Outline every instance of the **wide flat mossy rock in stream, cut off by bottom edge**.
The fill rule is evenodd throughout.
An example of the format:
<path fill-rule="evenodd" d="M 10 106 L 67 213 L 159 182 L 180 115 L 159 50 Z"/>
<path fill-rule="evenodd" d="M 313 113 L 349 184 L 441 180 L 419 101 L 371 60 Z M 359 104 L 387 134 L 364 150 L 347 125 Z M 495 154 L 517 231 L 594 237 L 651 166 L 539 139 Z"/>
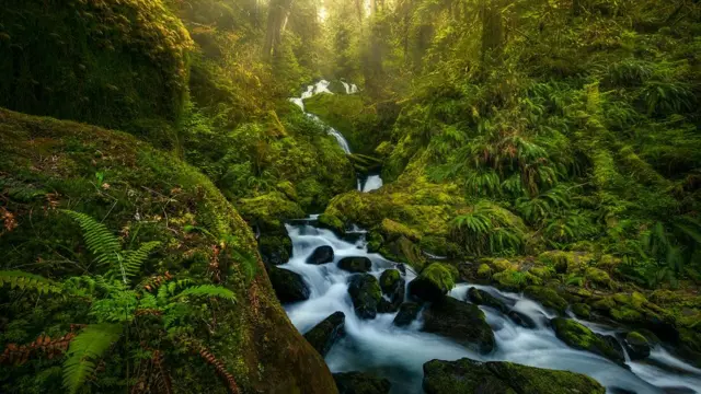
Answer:
<path fill-rule="evenodd" d="M 594 379 L 512 362 L 432 360 L 424 364 L 426 394 L 604 394 Z"/>

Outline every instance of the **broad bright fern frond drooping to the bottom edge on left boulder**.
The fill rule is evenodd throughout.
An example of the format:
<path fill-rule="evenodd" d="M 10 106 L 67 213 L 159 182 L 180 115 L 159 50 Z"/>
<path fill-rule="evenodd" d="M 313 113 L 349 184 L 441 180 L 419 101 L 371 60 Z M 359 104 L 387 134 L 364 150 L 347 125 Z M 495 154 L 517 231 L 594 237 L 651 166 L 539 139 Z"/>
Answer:
<path fill-rule="evenodd" d="M 64 362 L 64 387 L 74 394 L 95 371 L 95 362 L 119 339 L 122 325 L 92 324 L 85 327 L 70 344 Z"/>

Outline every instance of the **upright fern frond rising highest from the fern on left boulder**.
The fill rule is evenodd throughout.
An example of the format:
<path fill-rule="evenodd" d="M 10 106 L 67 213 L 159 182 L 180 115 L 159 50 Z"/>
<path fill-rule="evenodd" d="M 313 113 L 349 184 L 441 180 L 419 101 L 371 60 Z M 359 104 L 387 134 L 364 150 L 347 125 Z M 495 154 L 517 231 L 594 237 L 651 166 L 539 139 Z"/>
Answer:
<path fill-rule="evenodd" d="M 95 256 L 95 262 L 116 267 L 118 264 L 118 253 L 122 251 L 119 239 L 117 239 L 106 225 L 99 223 L 85 213 L 71 210 L 64 210 L 62 212 L 78 222 L 83 231 L 85 246 L 88 246 L 88 250 Z"/>

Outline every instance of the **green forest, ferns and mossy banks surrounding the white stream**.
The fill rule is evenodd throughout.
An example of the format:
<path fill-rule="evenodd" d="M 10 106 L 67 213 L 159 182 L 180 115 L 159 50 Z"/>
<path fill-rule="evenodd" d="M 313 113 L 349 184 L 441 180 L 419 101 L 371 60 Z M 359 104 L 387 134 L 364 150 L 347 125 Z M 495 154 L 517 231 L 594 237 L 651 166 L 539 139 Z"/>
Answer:
<path fill-rule="evenodd" d="M 0 391 L 334 392 L 265 274 L 310 213 L 701 362 L 697 0 L 0 10 Z"/>

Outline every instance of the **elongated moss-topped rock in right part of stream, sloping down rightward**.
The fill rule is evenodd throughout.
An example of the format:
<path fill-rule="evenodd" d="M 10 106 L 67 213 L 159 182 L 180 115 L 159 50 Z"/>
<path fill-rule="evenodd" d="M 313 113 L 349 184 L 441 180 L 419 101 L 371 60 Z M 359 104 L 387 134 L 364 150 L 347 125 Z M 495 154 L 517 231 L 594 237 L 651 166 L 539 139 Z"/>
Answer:
<path fill-rule="evenodd" d="M 575 349 L 590 351 L 621 364 L 625 361 L 622 351 L 616 346 L 612 346 L 609 339 L 602 335 L 595 334 L 591 329 L 574 320 L 555 317 L 551 320 L 550 323 L 558 338 L 568 346 Z"/>

